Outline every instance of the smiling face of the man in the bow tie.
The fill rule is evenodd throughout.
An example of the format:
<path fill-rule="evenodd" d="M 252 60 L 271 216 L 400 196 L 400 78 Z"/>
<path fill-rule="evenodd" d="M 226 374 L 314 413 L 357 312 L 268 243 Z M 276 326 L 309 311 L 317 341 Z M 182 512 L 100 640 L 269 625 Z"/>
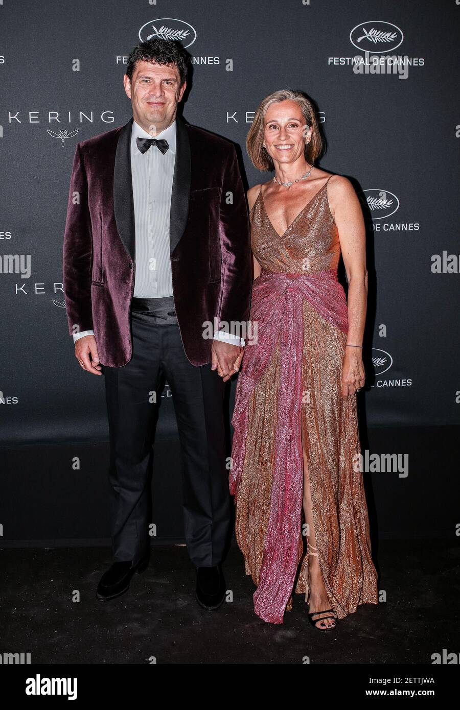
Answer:
<path fill-rule="evenodd" d="M 171 126 L 187 85 L 183 82 L 180 86 L 175 64 L 136 62 L 132 80 L 125 74 L 123 82 L 131 99 L 134 121 L 144 131 L 155 136 Z"/>

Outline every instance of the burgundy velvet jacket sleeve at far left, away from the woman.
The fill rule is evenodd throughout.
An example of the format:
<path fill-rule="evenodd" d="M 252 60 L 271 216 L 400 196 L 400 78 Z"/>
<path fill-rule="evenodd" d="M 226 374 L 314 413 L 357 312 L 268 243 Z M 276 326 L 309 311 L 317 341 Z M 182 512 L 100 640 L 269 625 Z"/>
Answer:
<path fill-rule="evenodd" d="M 70 335 L 92 330 L 92 230 L 80 143 L 75 148 L 65 221 L 63 285 Z"/>

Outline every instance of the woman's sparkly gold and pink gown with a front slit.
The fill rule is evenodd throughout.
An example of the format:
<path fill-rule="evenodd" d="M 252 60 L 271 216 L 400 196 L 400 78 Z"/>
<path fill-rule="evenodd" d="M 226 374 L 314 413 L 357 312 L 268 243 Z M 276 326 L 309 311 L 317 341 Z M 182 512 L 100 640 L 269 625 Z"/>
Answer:
<path fill-rule="evenodd" d="M 378 603 L 363 479 L 353 465 L 356 399 L 341 397 L 348 315 L 328 180 L 282 236 L 261 192 L 250 212 L 262 272 L 250 312 L 257 337 L 245 348 L 235 394 L 230 492 L 246 574 L 257 586 L 255 612 L 271 623 L 283 623 L 292 593 L 306 590 L 303 447 L 330 606 L 343 618 Z"/>

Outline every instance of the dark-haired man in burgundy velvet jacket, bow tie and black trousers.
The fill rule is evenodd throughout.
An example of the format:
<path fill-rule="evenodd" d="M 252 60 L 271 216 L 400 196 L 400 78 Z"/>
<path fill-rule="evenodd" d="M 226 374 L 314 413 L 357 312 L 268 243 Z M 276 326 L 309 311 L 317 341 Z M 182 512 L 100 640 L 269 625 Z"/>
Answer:
<path fill-rule="evenodd" d="M 63 278 L 75 356 L 105 375 L 114 564 L 97 597 L 123 594 L 149 561 L 152 400 L 166 378 L 196 597 L 214 609 L 230 522 L 223 396 L 245 344 L 251 256 L 235 148 L 176 116 L 188 61 L 176 41 L 138 45 L 124 75 L 133 118 L 77 144 Z"/>

